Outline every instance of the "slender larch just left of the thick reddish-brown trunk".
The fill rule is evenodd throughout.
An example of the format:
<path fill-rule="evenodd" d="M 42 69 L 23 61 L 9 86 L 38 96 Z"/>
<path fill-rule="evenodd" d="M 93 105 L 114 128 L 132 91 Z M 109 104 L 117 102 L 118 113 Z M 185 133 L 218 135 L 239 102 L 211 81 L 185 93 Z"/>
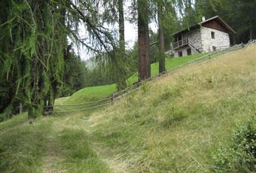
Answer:
<path fill-rule="evenodd" d="M 114 26 L 114 30 L 117 29 L 118 41 L 114 42 L 113 50 L 109 53 L 103 53 L 102 56 L 98 56 L 99 63 L 106 63 L 105 61 L 107 61 L 108 66 L 106 68 L 111 68 L 114 83 L 117 84 L 117 90 L 126 88 L 127 77 L 128 59 L 126 59 L 124 40 L 123 2 L 123 0 L 102 1 L 104 5 L 102 20 L 108 25 Z M 118 27 L 115 26 L 116 24 L 118 24 Z"/>

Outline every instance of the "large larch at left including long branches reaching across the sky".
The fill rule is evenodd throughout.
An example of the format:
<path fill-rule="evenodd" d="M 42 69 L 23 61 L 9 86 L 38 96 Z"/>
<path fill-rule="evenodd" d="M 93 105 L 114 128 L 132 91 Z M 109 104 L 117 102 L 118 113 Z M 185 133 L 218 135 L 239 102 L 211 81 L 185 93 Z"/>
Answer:
<path fill-rule="evenodd" d="M 114 39 L 97 15 L 96 0 L 0 2 L 1 78 L 15 77 L 15 94 L 29 119 L 52 112 L 62 84 L 67 36 L 88 50 L 113 50 Z M 80 23 L 88 32 L 81 38 Z"/>

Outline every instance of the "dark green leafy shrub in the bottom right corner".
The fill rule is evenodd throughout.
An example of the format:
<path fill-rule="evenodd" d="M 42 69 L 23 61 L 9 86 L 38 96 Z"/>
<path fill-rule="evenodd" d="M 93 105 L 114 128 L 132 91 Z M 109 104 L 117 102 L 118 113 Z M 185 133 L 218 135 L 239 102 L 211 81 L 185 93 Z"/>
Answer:
<path fill-rule="evenodd" d="M 217 172 L 256 172 L 255 117 L 237 126 L 230 147 L 221 147 L 213 156 Z"/>

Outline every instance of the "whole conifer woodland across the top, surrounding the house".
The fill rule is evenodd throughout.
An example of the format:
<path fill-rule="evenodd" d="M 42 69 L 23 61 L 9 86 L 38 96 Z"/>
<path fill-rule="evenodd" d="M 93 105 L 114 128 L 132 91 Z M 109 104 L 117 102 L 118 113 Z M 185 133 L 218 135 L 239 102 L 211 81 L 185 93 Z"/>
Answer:
<path fill-rule="evenodd" d="M 219 15 L 236 31 L 236 44 L 248 42 L 256 36 L 255 9 L 255 0 L 138 0 L 127 9 L 121 0 L 2 0 L 0 114 L 4 114 L 0 120 L 16 114 L 20 103 L 29 118 L 38 117 L 53 109 L 56 98 L 86 86 L 117 83 L 121 90 L 126 78 L 137 71 L 139 80 L 148 77 L 150 62 L 159 61 L 164 71 L 163 52 L 169 49 L 172 33 L 200 22 L 202 16 Z M 124 41 L 124 20 L 139 28 L 139 41 L 131 50 Z M 151 22 L 158 23 L 158 33 L 148 29 Z M 119 27 L 107 29 L 106 23 Z M 87 38 L 78 34 L 80 24 Z M 158 44 L 149 47 L 155 41 Z M 93 66 L 81 60 L 75 45 L 94 53 Z M 145 71 L 138 70 L 143 65 Z"/>

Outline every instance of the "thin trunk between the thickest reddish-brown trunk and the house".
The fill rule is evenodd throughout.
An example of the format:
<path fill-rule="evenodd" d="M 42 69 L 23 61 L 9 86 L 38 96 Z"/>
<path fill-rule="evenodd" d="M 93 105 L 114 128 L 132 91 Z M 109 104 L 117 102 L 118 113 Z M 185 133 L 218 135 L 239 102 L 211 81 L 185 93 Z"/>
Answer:
<path fill-rule="evenodd" d="M 164 33 L 163 33 L 163 5 L 161 2 L 157 3 L 157 17 L 158 17 L 158 48 L 159 48 L 159 73 L 166 71 L 166 59 L 164 54 Z"/>

